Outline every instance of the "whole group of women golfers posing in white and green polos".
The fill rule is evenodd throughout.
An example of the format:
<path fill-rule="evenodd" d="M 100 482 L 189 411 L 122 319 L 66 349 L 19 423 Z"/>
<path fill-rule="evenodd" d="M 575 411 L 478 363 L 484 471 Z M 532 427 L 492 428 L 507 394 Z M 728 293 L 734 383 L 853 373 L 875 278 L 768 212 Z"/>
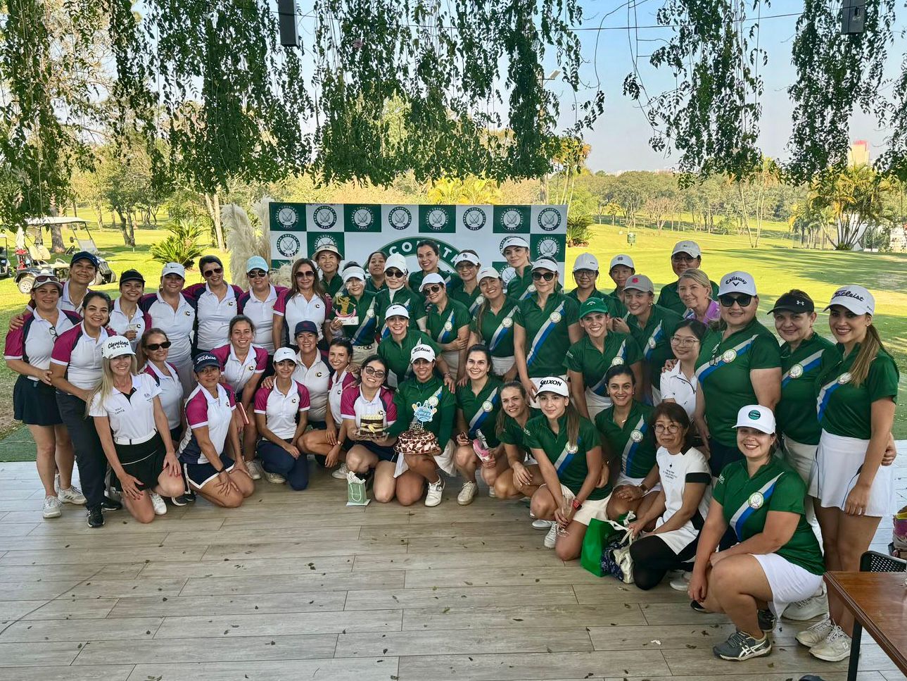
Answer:
<path fill-rule="evenodd" d="M 695 242 L 675 247 L 678 281 L 658 298 L 626 254 L 610 261 L 610 293 L 589 253 L 564 292 L 557 263 L 530 262 L 518 236 L 502 242 L 506 281 L 473 251 L 455 274 L 434 242 L 416 254 L 412 273 L 397 253 L 341 267 L 327 246 L 293 263 L 287 288 L 253 257 L 245 291 L 205 256 L 204 283 L 187 287 L 168 263 L 144 294 L 141 273 L 124 272 L 115 302 L 79 283 L 89 253 L 73 255 L 71 281 L 39 277 L 5 359 L 21 374 L 15 416 L 38 447 L 45 517 L 84 503 L 100 527 L 117 497 L 142 522 L 164 498 L 236 507 L 262 476 L 306 489 L 308 455 L 404 505 L 438 505 L 456 474 L 467 505 L 481 475 L 490 496 L 529 499 L 565 560 L 592 518 L 632 513 L 636 584 L 677 571 L 694 608 L 727 613 L 736 632 L 718 656 L 769 652 L 783 612 L 825 614 L 798 640 L 847 656 L 853 622 L 826 604 L 821 575 L 856 569 L 893 501 L 898 370 L 869 291 L 834 292 L 835 342 L 805 291 L 785 293 L 769 311 L 779 346 L 753 278 L 710 281 Z M 398 456 L 414 419 L 438 446 Z"/>

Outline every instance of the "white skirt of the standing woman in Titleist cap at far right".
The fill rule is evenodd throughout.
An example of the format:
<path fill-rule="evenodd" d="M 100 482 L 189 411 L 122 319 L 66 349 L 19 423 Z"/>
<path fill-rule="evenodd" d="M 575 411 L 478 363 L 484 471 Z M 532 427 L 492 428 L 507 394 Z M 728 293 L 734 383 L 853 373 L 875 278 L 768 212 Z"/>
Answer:
<path fill-rule="evenodd" d="M 809 495 L 818 499 L 822 508 L 844 510 L 847 495 L 860 477 L 860 469 L 869 447 L 868 439 L 844 438 L 825 430 L 815 451 L 815 465 L 809 477 Z M 880 466 L 869 489 L 869 503 L 864 516 L 882 518 L 894 511 L 894 471 Z"/>

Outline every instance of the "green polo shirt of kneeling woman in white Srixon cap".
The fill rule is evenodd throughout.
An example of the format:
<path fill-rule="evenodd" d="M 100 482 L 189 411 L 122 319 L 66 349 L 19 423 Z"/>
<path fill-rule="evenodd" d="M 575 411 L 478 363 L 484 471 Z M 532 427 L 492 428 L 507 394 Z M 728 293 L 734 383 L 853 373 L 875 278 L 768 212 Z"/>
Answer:
<path fill-rule="evenodd" d="M 558 479 L 561 485 L 570 489 L 574 495 L 580 493 L 586 476 L 589 474 L 589 466 L 586 463 L 586 453 L 590 449 L 600 447 L 599 434 L 595 431 L 595 426 L 589 419 L 580 417 L 580 437 L 575 443 L 567 442 L 567 416 L 564 415 L 558 420 L 558 434 L 555 435 L 548 425 L 548 418 L 537 416 L 534 419 L 526 421 L 524 441 L 528 449 L 541 449 L 545 456 L 554 465 L 558 471 Z M 536 457 L 538 458 L 538 457 Z M 596 500 L 606 498 L 611 493 L 611 486 L 593 488 L 589 499 Z"/>

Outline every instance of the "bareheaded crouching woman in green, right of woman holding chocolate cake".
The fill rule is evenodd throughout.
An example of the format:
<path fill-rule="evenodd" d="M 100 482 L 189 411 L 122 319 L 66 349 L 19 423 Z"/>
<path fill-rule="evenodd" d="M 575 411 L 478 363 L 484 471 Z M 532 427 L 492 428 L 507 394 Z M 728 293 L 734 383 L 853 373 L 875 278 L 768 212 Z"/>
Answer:
<path fill-rule="evenodd" d="M 492 355 L 484 345 L 473 345 L 466 353 L 466 384 L 456 391 L 456 447 L 453 462 L 463 476 L 463 489 L 456 498 L 460 506 L 473 503 L 477 487 L 475 470 L 482 466 L 482 479 L 488 485 L 489 495 L 494 496 L 494 482 L 507 466 L 503 447 L 495 425 L 501 410 L 501 380 L 492 376 Z M 484 439 L 484 446 L 480 439 Z M 480 449 L 488 456 L 480 459 L 473 448 L 478 440 Z"/>

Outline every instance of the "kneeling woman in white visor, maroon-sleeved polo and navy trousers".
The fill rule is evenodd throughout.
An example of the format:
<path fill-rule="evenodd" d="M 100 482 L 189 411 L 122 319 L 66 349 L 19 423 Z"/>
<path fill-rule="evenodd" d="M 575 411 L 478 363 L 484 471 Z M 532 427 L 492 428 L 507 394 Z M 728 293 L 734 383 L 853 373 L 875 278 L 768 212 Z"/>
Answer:
<path fill-rule="evenodd" d="M 274 353 L 274 385 L 255 393 L 255 421 L 261 439 L 256 453 L 268 482 L 286 482 L 297 491 L 308 487 L 308 458 L 302 434 L 308 425 L 308 390 L 293 380 L 296 353 L 279 348 Z"/>

